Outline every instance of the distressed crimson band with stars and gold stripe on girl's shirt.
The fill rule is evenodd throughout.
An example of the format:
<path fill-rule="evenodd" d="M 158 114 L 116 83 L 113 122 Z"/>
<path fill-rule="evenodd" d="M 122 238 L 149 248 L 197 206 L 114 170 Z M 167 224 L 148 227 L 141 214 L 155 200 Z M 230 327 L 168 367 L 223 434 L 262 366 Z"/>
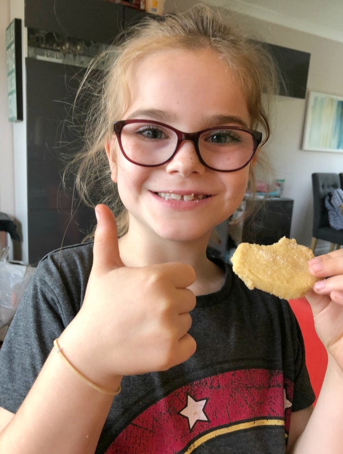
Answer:
<path fill-rule="evenodd" d="M 293 383 L 279 371 L 238 370 L 200 379 L 147 408 L 106 454 L 188 454 L 213 437 L 262 425 L 284 425 L 288 434 L 292 399 Z"/>

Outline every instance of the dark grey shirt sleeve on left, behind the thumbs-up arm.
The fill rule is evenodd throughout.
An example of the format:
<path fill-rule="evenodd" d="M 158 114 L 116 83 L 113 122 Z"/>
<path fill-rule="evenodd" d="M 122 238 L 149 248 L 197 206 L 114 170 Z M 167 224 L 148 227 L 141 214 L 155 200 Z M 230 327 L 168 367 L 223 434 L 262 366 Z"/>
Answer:
<path fill-rule="evenodd" d="M 0 407 L 16 413 L 52 347 L 75 316 L 50 259 L 38 265 L 0 350 Z"/>

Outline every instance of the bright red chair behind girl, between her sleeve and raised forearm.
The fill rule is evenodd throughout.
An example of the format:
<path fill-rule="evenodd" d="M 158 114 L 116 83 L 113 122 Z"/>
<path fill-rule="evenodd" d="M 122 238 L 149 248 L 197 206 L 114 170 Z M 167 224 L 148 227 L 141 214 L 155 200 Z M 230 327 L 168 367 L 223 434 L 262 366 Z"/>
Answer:
<path fill-rule="evenodd" d="M 314 393 L 316 395 L 316 400 L 314 402 L 315 405 L 327 367 L 327 352 L 314 328 L 312 310 L 306 298 L 290 300 L 289 303 L 297 317 L 298 323 L 303 333 L 306 366 L 309 371 Z"/>

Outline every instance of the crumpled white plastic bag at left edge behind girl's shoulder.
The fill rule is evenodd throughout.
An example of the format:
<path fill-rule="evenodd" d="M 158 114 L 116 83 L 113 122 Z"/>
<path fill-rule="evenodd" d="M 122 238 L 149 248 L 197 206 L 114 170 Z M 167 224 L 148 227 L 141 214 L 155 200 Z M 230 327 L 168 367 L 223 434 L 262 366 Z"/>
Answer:
<path fill-rule="evenodd" d="M 35 268 L 0 261 L 0 341 L 3 341 Z"/>

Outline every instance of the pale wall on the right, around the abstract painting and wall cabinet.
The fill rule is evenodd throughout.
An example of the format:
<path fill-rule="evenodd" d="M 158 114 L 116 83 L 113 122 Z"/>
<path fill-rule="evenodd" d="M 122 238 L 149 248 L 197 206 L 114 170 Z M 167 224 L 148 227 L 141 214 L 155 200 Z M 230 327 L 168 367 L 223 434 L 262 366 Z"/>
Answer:
<path fill-rule="evenodd" d="M 195 0 L 166 0 L 166 11 L 184 11 Z M 218 6 L 223 0 L 207 0 Z M 234 13 L 242 27 L 256 38 L 311 53 L 308 91 L 343 96 L 343 42 L 304 33 L 289 27 Z M 339 36 L 340 38 L 340 36 Z M 302 136 L 306 100 L 278 96 L 275 132 L 266 150 L 276 169 L 276 178 L 285 179 L 283 195 L 294 199 L 291 236 L 310 246 L 312 237 L 312 182 L 314 172 L 343 172 L 343 154 L 303 151 Z M 318 242 L 317 253 L 326 252 L 328 243 Z"/>

